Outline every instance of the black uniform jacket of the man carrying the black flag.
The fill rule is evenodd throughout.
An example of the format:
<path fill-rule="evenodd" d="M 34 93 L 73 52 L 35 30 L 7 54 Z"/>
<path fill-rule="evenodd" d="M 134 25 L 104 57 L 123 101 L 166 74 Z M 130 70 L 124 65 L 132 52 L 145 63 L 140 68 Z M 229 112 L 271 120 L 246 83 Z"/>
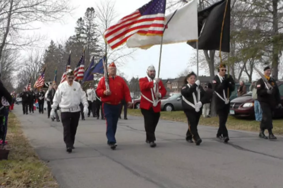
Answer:
<path fill-rule="evenodd" d="M 228 88 L 229 88 L 229 93 L 228 93 Z M 212 89 L 214 92 L 217 92 L 222 98 L 223 96 L 223 90 L 225 93 L 226 98 L 231 96 L 232 91 L 235 90 L 235 81 L 232 78 L 232 76 L 229 76 L 226 74 L 224 76 L 224 79 L 221 83 L 220 78 L 218 75 L 216 75 L 213 80 L 212 80 Z M 225 101 L 223 101 L 216 93 L 214 93 L 215 100 L 216 100 L 216 109 L 221 109 L 225 107 Z M 225 98 L 224 98 L 225 99 Z M 227 105 L 230 105 L 230 101 Z"/>

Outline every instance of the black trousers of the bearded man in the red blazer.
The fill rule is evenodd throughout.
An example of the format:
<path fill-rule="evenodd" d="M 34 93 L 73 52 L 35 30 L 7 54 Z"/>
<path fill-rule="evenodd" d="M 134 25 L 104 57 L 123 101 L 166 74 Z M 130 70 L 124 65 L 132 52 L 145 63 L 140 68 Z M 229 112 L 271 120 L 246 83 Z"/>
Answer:
<path fill-rule="evenodd" d="M 141 109 L 142 115 L 144 116 L 144 128 L 146 130 L 146 140 L 154 142 L 155 129 L 159 121 L 160 112 L 154 112 L 153 109 Z"/>

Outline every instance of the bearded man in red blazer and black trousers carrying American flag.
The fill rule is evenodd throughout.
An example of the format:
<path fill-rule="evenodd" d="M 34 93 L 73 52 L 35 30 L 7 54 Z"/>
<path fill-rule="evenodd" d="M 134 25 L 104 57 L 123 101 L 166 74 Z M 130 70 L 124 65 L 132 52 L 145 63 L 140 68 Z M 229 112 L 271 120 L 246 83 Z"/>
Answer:
<path fill-rule="evenodd" d="M 146 130 L 146 143 L 150 147 L 156 147 L 154 143 L 155 129 L 160 117 L 160 100 L 165 97 L 166 89 L 159 78 L 155 78 L 155 68 L 153 65 L 147 69 L 147 76 L 139 79 L 139 88 L 141 90 L 140 109 L 144 116 L 144 128 Z"/>

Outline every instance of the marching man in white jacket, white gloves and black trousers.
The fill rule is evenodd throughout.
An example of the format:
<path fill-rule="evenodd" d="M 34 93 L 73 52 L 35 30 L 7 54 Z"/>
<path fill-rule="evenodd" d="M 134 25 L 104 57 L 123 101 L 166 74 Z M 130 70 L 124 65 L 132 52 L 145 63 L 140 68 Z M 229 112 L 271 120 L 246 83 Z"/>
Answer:
<path fill-rule="evenodd" d="M 74 78 L 74 72 L 69 69 L 66 73 L 67 81 L 61 83 L 56 90 L 50 113 L 51 118 L 55 118 L 55 110 L 59 105 L 64 130 L 64 142 L 68 153 L 71 153 L 72 149 L 75 149 L 75 135 L 81 115 L 80 103 L 83 104 L 84 115 L 88 113 L 85 92 L 79 82 L 74 81 Z"/>

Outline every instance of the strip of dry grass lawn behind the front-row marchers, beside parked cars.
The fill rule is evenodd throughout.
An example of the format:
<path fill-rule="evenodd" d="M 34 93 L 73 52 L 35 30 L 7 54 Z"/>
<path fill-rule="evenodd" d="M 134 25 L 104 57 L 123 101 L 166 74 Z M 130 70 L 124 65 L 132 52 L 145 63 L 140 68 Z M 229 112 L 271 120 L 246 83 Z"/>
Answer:
<path fill-rule="evenodd" d="M 128 109 L 129 115 L 142 116 L 139 109 Z M 173 111 L 173 112 L 161 112 L 161 119 L 170 121 L 181 121 L 187 122 L 187 117 L 183 111 Z M 200 125 L 207 126 L 219 126 L 218 117 L 211 118 L 200 118 Z M 248 130 L 248 131 L 259 131 L 259 122 L 246 119 L 236 119 L 235 117 L 229 116 L 226 124 L 228 129 L 234 130 Z M 273 120 L 273 132 L 274 134 L 283 135 L 283 120 L 276 119 Z"/>

